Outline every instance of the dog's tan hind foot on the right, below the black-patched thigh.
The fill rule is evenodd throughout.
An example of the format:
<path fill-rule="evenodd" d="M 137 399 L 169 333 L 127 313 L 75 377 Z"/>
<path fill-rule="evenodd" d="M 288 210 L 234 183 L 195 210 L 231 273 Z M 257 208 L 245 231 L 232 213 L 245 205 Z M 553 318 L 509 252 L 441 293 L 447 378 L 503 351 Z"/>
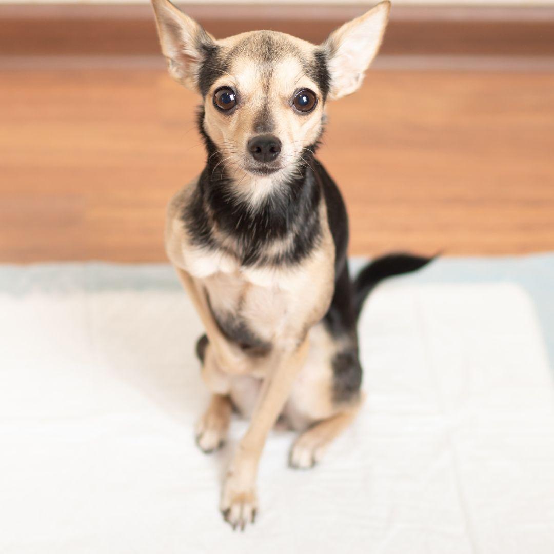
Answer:
<path fill-rule="evenodd" d="M 290 450 L 289 465 L 296 469 L 309 469 L 319 462 L 331 442 L 356 417 L 362 399 L 327 419 L 314 423 L 300 434 Z"/>

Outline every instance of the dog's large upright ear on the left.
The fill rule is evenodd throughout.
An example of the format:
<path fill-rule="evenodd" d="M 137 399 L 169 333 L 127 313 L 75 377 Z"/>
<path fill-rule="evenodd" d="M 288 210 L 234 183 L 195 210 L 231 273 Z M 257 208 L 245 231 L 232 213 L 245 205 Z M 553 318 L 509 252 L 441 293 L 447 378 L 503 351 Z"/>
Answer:
<path fill-rule="evenodd" d="M 152 0 L 152 6 L 170 75 L 198 93 L 198 73 L 206 54 L 216 48 L 215 39 L 169 0 Z"/>

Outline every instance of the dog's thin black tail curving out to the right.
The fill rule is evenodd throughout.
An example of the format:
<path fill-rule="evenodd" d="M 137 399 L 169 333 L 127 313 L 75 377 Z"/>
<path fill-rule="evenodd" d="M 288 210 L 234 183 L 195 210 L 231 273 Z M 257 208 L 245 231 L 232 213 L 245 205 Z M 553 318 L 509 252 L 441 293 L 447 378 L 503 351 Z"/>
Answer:
<path fill-rule="evenodd" d="M 356 317 L 362 311 L 363 301 L 375 286 L 393 275 L 402 275 L 411 273 L 433 261 L 432 258 L 423 258 L 412 254 L 388 254 L 382 258 L 377 258 L 363 268 L 354 280 L 354 301 L 356 307 Z"/>

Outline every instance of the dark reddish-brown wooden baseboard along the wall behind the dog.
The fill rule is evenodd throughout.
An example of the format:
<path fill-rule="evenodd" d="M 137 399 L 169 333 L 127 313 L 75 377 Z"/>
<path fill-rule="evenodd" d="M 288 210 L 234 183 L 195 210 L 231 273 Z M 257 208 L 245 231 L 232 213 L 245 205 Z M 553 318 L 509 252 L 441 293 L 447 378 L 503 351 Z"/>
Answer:
<path fill-rule="evenodd" d="M 363 6 L 188 5 L 216 37 L 270 28 L 320 42 Z M 554 57 L 553 8 L 394 7 L 383 56 Z M 150 6 L 0 6 L 0 56 L 158 55 Z"/>

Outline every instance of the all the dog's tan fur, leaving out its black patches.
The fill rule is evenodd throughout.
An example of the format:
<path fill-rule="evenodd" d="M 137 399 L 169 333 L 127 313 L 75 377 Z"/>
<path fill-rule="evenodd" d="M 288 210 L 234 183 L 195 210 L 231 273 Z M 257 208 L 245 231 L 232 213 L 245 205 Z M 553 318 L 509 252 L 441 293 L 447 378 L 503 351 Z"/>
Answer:
<path fill-rule="evenodd" d="M 316 47 L 270 31 L 216 41 L 168 0 L 152 3 L 168 70 L 179 83 L 200 91 L 202 44 L 209 48 L 217 43 L 227 54 L 225 59 L 230 60 L 228 70 L 218 74 L 209 90 L 203 91 L 202 127 L 218 148 L 218 163 L 230 177 L 234 192 L 254 209 L 271 191 L 286 186 L 297 171 L 302 152 L 320 135 L 324 95 L 302 64 L 315 59 Z M 340 98 L 360 86 L 381 43 L 389 5 L 382 2 L 330 35 L 325 43 L 330 56 L 329 98 Z M 264 45 L 270 45 L 270 49 L 260 55 Z M 220 87 L 231 87 L 237 93 L 239 100 L 233 114 L 223 113 L 213 104 L 213 94 Z M 306 114 L 293 109 L 294 96 L 300 89 L 310 89 L 318 99 L 315 108 Z M 252 156 L 247 145 L 262 132 L 260 127 L 269 125 L 268 121 L 271 134 L 281 142 L 276 161 L 280 165 L 271 176 L 261 176 L 248 165 Z M 213 168 L 216 170 L 217 166 Z M 291 453 L 291 463 L 303 467 L 319 459 L 330 440 L 350 423 L 360 401 L 355 398 L 344 406 L 333 398 L 332 360 L 343 345 L 320 323 L 329 309 L 335 282 L 335 244 L 324 199 L 317 208 L 319 240 L 300 263 L 243 266 L 240 244 L 230 235 L 223 235 L 213 213 L 208 212 L 206 217 L 212 219 L 219 250 L 193 244 L 188 236 L 182 218 L 197 184 L 198 179 L 194 179 L 168 206 L 166 252 L 208 337 L 202 377 L 213 396 L 198 424 L 199 446 L 212 450 L 223 440 L 231 400 L 243 414 L 251 416 L 249 429 L 229 467 L 220 502 L 233 527 L 244 527 L 257 509 L 258 461 L 279 415 L 296 429 L 309 428 Z M 267 254 L 287 252 L 292 236 L 275 240 Z M 257 355 L 243 351 L 224 335 L 214 312 L 237 314 L 271 347 Z"/>

